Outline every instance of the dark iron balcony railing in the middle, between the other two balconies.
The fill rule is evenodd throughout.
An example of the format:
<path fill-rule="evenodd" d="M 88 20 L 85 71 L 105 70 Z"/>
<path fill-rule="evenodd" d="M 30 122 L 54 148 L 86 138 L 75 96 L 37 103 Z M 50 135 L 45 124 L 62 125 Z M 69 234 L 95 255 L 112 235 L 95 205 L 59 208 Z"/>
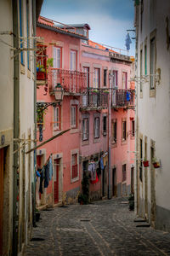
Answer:
<path fill-rule="evenodd" d="M 82 109 L 107 108 L 109 90 L 87 88 L 82 95 Z"/>

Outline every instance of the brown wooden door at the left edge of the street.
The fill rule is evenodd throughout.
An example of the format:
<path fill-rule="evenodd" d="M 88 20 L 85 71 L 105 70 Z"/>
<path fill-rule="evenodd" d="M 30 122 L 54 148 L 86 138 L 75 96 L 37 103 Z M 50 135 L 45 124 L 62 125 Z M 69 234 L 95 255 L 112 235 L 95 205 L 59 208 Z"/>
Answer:
<path fill-rule="evenodd" d="M 0 255 L 3 254 L 3 148 L 0 149 Z"/>

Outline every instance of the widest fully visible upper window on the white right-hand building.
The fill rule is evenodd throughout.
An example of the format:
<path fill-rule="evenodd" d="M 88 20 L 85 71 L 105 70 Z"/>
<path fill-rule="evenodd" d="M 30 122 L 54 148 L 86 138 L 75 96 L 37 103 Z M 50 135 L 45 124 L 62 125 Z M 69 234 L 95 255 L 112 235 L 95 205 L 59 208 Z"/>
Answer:
<path fill-rule="evenodd" d="M 154 74 L 156 73 L 156 38 L 150 40 L 150 89 L 155 88 Z"/>

